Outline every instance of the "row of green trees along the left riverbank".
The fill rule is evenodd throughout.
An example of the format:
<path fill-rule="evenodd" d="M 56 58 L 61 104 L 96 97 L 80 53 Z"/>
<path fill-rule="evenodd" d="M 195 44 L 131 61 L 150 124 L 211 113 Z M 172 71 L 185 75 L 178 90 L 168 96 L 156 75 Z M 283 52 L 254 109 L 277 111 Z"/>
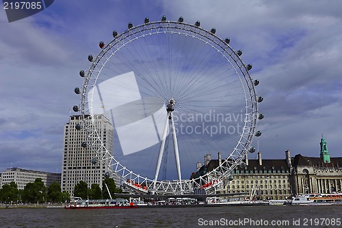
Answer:
<path fill-rule="evenodd" d="M 116 188 L 114 179 L 106 178 L 103 181 L 102 190 L 98 183 L 93 183 L 91 188 L 88 188 L 88 183 L 79 181 L 75 186 L 74 196 L 82 199 L 110 199 L 105 183 L 111 197 L 114 197 L 114 193 L 122 192 L 120 188 Z M 18 185 L 12 181 L 0 188 L 0 202 L 2 203 L 65 203 L 68 201 L 70 201 L 70 194 L 66 191 L 62 192 L 60 183 L 57 181 L 46 187 L 42 179 L 37 178 L 34 182 L 27 183 L 23 190 L 18 190 Z"/>

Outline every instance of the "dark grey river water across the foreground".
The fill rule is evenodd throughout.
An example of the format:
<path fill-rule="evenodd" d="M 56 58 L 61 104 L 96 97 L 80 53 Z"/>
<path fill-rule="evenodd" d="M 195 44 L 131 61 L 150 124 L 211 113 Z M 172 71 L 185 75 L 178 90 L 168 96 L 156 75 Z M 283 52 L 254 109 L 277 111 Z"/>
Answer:
<path fill-rule="evenodd" d="M 0 227 L 341 227 L 342 205 L 0 209 Z"/>

